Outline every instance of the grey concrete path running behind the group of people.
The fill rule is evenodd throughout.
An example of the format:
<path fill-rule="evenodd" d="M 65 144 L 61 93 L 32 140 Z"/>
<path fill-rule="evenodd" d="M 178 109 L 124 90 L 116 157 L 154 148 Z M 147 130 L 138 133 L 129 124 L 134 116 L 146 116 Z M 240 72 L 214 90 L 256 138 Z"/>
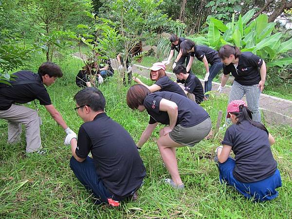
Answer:
<path fill-rule="evenodd" d="M 79 53 L 74 55 L 80 58 Z M 115 59 L 111 60 L 111 65 L 114 70 L 117 69 L 117 63 Z M 149 78 L 148 68 L 142 65 L 133 65 L 132 73 L 138 73 L 146 78 Z M 166 73 L 169 77 L 173 79 L 176 78 L 174 73 Z M 203 80 L 201 80 L 201 83 L 202 85 L 204 84 Z M 212 91 L 216 91 L 220 84 L 213 82 L 212 85 Z M 231 87 L 226 86 L 226 89 L 223 90 L 223 93 L 229 94 L 230 89 Z M 245 99 L 245 97 L 243 99 Z M 266 123 L 270 125 L 288 125 L 292 127 L 292 101 L 261 94 L 259 99 L 259 106 Z"/>

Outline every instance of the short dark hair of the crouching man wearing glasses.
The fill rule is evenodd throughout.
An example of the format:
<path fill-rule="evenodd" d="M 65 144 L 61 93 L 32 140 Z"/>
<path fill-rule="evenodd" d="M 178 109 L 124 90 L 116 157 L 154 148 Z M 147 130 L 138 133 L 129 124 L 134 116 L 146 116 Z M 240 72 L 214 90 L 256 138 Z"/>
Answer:
<path fill-rule="evenodd" d="M 105 110 L 106 99 L 102 92 L 94 87 L 78 91 L 74 96 L 74 100 L 78 106 L 88 105 L 95 112 Z"/>

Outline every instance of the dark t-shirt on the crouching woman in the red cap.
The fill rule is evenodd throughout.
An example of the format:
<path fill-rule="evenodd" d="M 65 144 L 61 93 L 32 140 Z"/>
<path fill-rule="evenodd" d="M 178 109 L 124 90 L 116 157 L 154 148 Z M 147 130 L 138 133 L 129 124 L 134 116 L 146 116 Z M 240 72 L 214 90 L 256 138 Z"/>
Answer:
<path fill-rule="evenodd" d="M 233 175 L 240 182 L 267 179 L 277 169 L 268 133 L 248 121 L 227 128 L 221 144 L 232 146 L 236 159 Z"/>

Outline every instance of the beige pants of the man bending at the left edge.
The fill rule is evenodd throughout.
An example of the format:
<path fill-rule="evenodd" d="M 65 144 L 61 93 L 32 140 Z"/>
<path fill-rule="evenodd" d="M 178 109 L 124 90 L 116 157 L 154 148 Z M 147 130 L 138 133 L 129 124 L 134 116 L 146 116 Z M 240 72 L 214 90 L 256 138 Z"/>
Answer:
<path fill-rule="evenodd" d="M 8 121 L 8 143 L 20 141 L 21 124 L 23 124 L 26 132 L 26 152 L 30 153 L 42 148 L 36 110 L 12 104 L 8 110 L 0 110 L 0 118 Z"/>

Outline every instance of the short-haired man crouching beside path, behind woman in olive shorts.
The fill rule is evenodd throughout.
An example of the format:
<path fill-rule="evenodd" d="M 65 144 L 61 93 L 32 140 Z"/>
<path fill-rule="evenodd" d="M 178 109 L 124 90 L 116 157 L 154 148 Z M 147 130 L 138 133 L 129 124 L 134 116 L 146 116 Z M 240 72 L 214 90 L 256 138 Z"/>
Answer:
<path fill-rule="evenodd" d="M 197 104 L 201 104 L 204 99 L 204 91 L 201 81 L 196 75 L 186 73 L 186 69 L 183 65 L 178 65 L 173 69 L 177 77 L 177 83 L 182 83 L 184 85 L 184 92 L 187 94 L 194 94 L 195 101 Z M 191 98 L 190 98 L 191 99 Z"/>

